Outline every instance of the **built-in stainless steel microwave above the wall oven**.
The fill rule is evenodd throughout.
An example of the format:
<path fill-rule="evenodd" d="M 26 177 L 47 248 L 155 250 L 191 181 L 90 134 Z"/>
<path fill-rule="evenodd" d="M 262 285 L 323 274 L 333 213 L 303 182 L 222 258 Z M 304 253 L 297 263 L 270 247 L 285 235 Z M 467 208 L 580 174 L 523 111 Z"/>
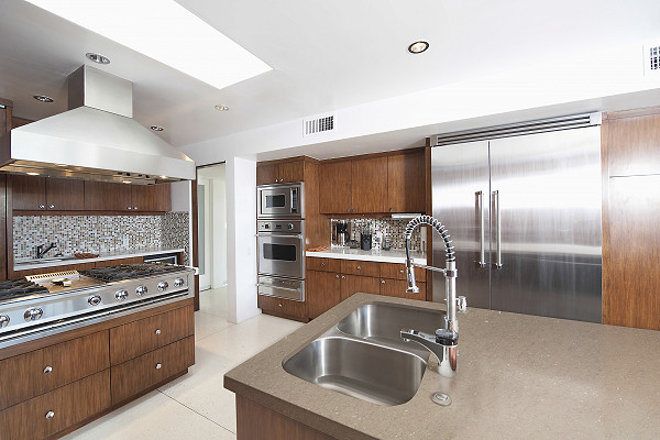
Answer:
<path fill-rule="evenodd" d="M 257 188 L 257 219 L 301 219 L 304 183 L 260 185 Z"/>

